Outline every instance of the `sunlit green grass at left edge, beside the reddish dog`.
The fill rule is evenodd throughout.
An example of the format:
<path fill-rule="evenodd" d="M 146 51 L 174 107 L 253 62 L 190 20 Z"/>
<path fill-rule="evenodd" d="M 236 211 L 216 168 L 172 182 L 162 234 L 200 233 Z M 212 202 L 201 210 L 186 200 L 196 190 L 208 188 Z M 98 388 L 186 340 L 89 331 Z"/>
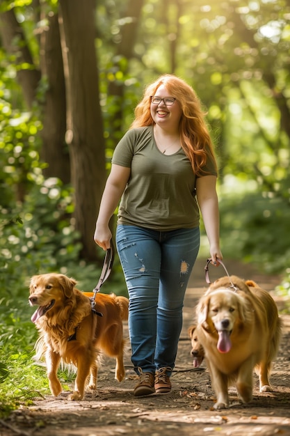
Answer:
<path fill-rule="evenodd" d="M 27 318 L 27 303 L 21 294 L 17 288 L 10 288 L 1 296 L 0 417 L 47 391 L 47 382 L 41 381 L 43 370 L 35 367 L 32 359 L 35 326 Z"/>

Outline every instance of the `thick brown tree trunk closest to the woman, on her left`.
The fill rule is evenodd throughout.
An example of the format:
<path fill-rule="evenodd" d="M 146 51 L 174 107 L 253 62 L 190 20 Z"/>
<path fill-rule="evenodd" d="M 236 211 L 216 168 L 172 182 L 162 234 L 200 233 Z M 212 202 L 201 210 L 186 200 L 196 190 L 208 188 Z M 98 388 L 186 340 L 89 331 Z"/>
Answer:
<path fill-rule="evenodd" d="M 93 233 L 106 180 L 94 5 L 94 0 L 60 0 L 59 10 L 74 217 L 76 230 L 81 234 L 82 256 L 86 260 L 97 259 Z"/>

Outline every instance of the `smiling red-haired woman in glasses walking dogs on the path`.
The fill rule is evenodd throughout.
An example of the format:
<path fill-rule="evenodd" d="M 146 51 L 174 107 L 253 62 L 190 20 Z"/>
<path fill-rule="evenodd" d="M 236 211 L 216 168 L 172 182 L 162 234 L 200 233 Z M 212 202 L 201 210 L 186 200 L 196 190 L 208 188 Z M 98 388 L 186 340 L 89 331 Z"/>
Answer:
<path fill-rule="evenodd" d="M 195 92 L 163 75 L 147 86 L 135 120 L 115 148 L 99 208 L 95 242 L 116 242 L 129 292 L 135 396 L 169 392 L 182 307 L 200 247 L 199 208 L 212 263 L 219 247 L 216 160 Z"/>

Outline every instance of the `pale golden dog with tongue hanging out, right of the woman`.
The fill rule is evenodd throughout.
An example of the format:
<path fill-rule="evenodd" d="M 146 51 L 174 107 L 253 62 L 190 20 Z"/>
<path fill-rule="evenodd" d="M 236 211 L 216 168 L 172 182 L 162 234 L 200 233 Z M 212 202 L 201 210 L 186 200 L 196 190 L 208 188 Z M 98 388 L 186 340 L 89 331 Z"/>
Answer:
<path fill-rule="evenodd" d="M 232 382 L 243 403 L 252 400 L 254 368 L 260 392 L 272 391 L 268 377 L 279 348 L 282 320 L 266 290 L 251 280 L 222 277 L 201 297 L 196 316 L 198 338 L 217 396 L 216 409 L 228 407 Z"/>

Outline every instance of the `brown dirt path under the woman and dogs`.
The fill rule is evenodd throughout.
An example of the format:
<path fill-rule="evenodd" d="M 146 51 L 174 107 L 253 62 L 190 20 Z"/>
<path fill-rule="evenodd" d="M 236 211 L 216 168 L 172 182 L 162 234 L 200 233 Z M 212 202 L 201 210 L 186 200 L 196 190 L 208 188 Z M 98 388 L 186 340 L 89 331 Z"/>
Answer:
<path fill-rule="evenodd" d="M 278 277 L 262 276 L 236 262 L 227 262 L 227 270 L 243 279 L 253 279 L 270 291 L 279 283 Z M 223 275 L 221 267 L 209 268 L 211 281 Z M 232 389 L 229 409 L 217 412 L 213 409 L 209 373 L 204 364 L 198 371 L 193 369 L 187 336 L 193 308 L 206 288 L 204 262 L 198 261 L 186 293 L 184 327 L 170 394 L 134 397 L 136 375 L 128 353 L 124 382 L 114 380 L 114 361 L 106 359 L 99 372 L 96 393 L 76 402 L 68 401 L 66 392 L 58 398 L 37 399 L 33 406 L 20 408 L 5 423 L 0 423 L 0 436 L 290 435 L 290 316 L 283 316 L 284 336 L 271 377 L 275 392 L 260 394 L 255 376 L 252 403 L 241 405 Z M 281 306 L 282 302 L 276 301 Z"/>

